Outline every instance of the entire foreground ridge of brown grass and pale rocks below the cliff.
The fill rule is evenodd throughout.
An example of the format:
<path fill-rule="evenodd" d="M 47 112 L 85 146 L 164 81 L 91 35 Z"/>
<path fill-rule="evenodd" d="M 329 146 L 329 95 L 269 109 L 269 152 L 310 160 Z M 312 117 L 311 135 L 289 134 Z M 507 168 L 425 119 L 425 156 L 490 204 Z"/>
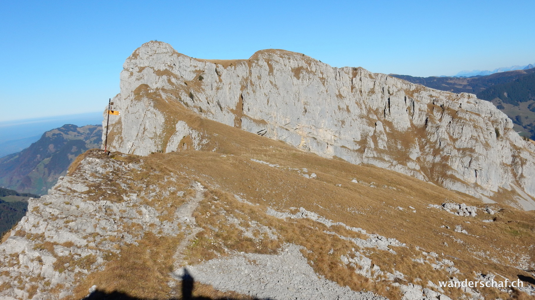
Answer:
<path fill-rule="evenodd" d="M 426 211 L 445 197 L 470 211 L 485 208 L 414 178 L 392 180 L 392 171 L 215 125 L 217 132 L 204 124 L 204 133 L 188 124 L 212 138 L 201 151 L 82 155 L 49 195 L 30 200 L 28 215 L 0 244 L 0 297 L 80 299 L 126 289 L 138 298 L 177 298 L 184 268 L 196 286 L 259 298 L 533 295 L 528 283 L 521 291 L 437 287 L 438 280 L 471 280 L 488 270 L 500 270 L 500 279 L 529 274 L 522 271 L 534 266 L 529 242 L 487 247 L 487 240 L 499 234 L 511 241 L 515 235 L 503 226 L 518 223 L 514 216 L 530 222 L 531 212 L 493 204 L 500 219 L 480 223 L 484 212 L 452 214 L 461 204 L 451 200 L 450 212 L 438 204 Z M 513 228 L 529 241 L 525 226 Z M 469 261 L 480 263 L 467 267 Z"/>

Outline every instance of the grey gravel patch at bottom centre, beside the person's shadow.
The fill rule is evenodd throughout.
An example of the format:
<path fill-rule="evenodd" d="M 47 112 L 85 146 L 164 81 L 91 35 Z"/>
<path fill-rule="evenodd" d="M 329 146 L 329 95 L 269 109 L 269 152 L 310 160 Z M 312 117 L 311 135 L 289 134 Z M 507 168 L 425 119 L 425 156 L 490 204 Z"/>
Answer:
<path fill-rule="evenodd" d="M 348 287 L 340 287 L 336 282 L 318 278 L 299 251 L 299 246 L 285 244 L 283 248 L 278 255 L 248 253 L 211 259 L 200 265 L 177 270 L 174 277 L 181 277 L 187 269 L 197 282 L 261 299 L 386 299 L 371 292 L 356 292 Z"/>

